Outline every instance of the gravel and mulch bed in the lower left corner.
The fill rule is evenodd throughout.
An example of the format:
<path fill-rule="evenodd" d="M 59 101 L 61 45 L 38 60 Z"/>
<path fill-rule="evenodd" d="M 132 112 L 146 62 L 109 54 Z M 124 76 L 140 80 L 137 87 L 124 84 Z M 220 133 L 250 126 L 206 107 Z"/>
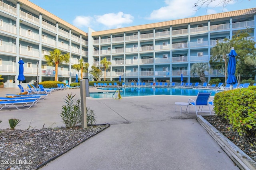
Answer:
<path fill-rule="evenodd" d="M 37 169 L 109 127 L 0 129 L 0 170 Z"/>

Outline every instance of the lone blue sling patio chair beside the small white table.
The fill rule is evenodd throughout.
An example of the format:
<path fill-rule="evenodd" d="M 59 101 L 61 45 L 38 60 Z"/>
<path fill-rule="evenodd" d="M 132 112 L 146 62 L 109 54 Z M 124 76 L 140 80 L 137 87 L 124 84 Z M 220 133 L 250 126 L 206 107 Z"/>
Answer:
<path fill-rule="evenodd" d="M 211 94 L 212 93 L 198 93 L 197 96 L 196 96 L 196 100 L 188 99 L 188 104 L 194 106 L 195 109 L 196 109 L 196 117 L 198 117 L 198 113 L 200 113 L 200 112 L 210 112 L 210 114 L 212 114 L 210 106 L 209 106 L 209 98 L 210 98 Z M 187 106 L 188 110 L 189 110 L 188 107 L 190 105 Z M 203 106 L 208 106 L 209 111 L 208 110 L 207 111 L 202 111 Z M 200 109 L 200 107 L 201 107 L 201 109 Z M 186 111 L 187 111 L 187 109 L 186 109 Z"/>

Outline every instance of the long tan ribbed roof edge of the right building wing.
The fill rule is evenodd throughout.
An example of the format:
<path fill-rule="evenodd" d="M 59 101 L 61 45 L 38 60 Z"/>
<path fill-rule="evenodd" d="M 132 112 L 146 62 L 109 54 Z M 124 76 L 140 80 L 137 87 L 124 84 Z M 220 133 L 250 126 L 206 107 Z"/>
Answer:
<path fill-rule="evenodd" d="M 220 18 L 230 18 L 234 16 L 242 16 L 242 15 L 248 15 L 248 14 L 256 14 L 256 8 L 237 10 L 237 11 L 231 11 L 231 12 L 223 12 L 219 14 L 211 14 L 206 16 L 192 17 L 192 18 L 184 18 L 179 20 L 150 23 L 150 24 L 137 25 L 132 27 L 123 27 L 123 28 L 109 29 L 104 31 L 95 31 L 95 32 L 92 32 L 92 36 L 110 35 L 112 33 L 124 33 L 129 31 L 137 31 L 141 29 L 152 29 L 156 27 L 166 27 L 170 25 L 188 24 L 193 22 L 208 21 L 208 20 L 214 20 L 214 19 L 220 19 Z"/>

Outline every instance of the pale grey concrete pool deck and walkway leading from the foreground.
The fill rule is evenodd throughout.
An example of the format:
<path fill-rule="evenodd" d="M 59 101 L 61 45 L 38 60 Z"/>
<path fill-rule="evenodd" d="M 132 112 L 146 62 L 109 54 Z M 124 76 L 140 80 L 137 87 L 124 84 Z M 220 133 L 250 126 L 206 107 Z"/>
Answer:
<path fill-rule="evenodd" d="M 7 88 L 4 88 L 7 90 Z M 12 89 L 11 91 L 14 92 Z M 93 89 L 90 88 L 92 91 Z M 53 92 L 28 110 L 2 109 L 0 129 L 8 119 L 21 119 L 18 129 L 30 126 L 60 127 L 59 115 L 67 94 L 80 90 Z M 6 94 L 0 89 L 0 96 Z M 9 92 L 8 92 L 9 93 Z M 233 170 L 238 169 L 196 121 L 196 112 L 174 102 L 187 102 L 189 96 L 141 96 L 121 100 L 86 98 L 97 122 L 111 126 L 78 147 L 44 166 L 43 170 Z M 196 98 L 196 97 L 191 97 Z"/>

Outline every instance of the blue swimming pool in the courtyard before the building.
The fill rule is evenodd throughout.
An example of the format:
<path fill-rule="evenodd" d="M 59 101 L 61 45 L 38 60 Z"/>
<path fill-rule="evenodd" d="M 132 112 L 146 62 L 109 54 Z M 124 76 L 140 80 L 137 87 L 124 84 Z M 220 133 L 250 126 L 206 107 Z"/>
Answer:
<path fill-rule="evenodd" d="M 90 93 L 92 98 L 112 98 L 113 92 L 104 92 L 104 90 L 116 90 L 117 88 L 99 88 L 100 93 Z M 152 95 L 183 95 L 183 96 L 197 96 L 198 92 L 212 92 L 214 96 L 218 91 L 192 88 L 152 88 L 152 87 L 125 87 L 120 88 L 122 97 L 128 96 L 152 96 Z"/>

